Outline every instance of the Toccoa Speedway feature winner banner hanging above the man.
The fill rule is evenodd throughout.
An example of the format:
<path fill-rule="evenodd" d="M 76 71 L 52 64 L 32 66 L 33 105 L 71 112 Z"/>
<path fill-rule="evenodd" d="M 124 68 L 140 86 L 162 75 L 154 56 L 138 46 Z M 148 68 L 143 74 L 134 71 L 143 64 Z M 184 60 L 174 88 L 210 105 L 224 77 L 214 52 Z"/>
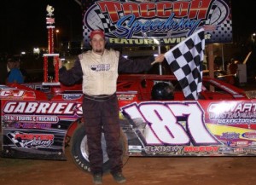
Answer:
<path fill-rule="evenodd" d="M 83 0 L 84 47 L 101 29 L 110 46 L 176 45 L 204 28 L 206 43 L 231 43 L 228 0 Z"/>

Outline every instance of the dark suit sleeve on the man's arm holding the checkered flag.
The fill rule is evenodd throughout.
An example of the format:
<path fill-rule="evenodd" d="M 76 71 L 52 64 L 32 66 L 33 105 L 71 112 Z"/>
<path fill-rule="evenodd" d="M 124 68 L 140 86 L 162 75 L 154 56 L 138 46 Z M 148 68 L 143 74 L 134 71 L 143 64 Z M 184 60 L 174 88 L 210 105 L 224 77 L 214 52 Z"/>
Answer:
<path fill-rule="evenodd" d="M 130 60 L 119 55 L 119 72 L 144 72 L 151 68 L 151 63 L 154 61 L 154 56 L 146 59 Z"/>

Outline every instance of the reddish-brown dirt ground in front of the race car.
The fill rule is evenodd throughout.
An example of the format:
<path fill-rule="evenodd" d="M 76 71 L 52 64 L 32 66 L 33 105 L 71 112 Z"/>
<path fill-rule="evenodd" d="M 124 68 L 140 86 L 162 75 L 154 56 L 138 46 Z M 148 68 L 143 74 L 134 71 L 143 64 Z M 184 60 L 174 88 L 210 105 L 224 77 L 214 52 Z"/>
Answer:
<path fill-rule="evenodd" d="M 124 185 L 254 185 L 255 157 L 130 157 Z M 88 173 L 67 161 L 0 158 L 1 185 L 90 185 Z M 103 185 L 118 184 L 109 174 Z"/>

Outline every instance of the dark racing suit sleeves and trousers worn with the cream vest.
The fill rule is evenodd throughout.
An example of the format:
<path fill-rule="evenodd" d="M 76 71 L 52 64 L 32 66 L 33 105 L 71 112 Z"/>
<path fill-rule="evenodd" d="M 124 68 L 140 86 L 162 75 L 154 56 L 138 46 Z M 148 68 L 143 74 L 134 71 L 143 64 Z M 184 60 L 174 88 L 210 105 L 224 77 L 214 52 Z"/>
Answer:
<path fill-rule="evenodd" d="M 119 55 L 118 72 L 148 71 L 154 57 L 146 59 L 128 60 Z M 111 66 L 110 66 L 111 67 Z M 74 62 L 73 68 L 67 70 L 65 66 L 60 69 L 62 84 L 75 84 L 83 77 L 83 70 L 79 58 Z M 84 79 L 90 80 L 90 79 Z M 90 171 L 92 174 L 102 173 L 102 145 L 101 136 L 104 133 L 107 143 L 107 153 L 111 166 L 111 173 L 122 171 L 122 148 L 119 143 L 119 104 L 116 94 L 113 95 L 84 95 L 83 114 L 86 135 L 88 139 Z"/>

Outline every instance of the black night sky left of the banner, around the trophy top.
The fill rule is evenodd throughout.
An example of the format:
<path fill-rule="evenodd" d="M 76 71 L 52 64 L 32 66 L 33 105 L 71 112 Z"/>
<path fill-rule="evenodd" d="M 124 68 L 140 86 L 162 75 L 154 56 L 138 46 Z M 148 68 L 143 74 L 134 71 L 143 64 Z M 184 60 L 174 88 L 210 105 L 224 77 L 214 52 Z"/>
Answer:
<path fill-rule="evenodd" d="M 47 47 L 46 7 L 55 8 L 60 40 L 82 37 L 82 10 L 73 0 L 1 0 L 0 52 Z"/>

